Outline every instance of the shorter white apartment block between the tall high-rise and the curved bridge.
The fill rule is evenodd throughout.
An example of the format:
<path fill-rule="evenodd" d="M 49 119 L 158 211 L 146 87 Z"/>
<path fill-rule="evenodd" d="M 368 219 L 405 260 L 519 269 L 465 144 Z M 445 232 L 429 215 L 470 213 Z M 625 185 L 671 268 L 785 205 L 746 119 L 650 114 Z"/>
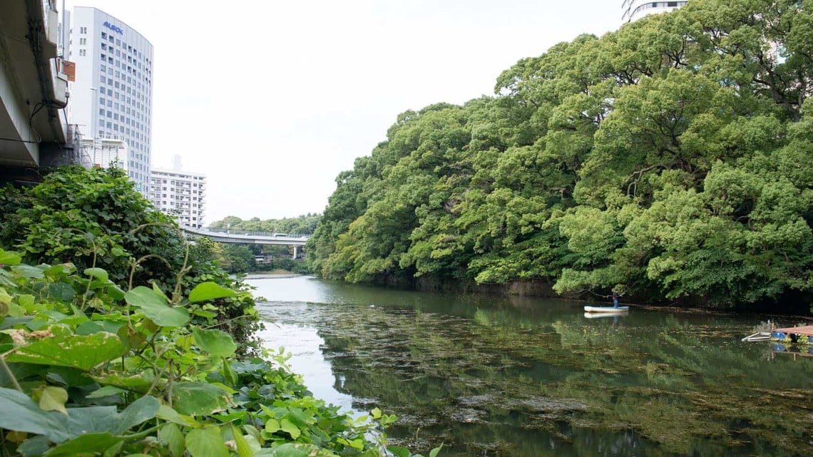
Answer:
<path fill-rule="evenodd" d="M 150 174 L 150 202 L 175 216 L 180 225 L 203 228 L 206 175 L 155 168 Z"/>

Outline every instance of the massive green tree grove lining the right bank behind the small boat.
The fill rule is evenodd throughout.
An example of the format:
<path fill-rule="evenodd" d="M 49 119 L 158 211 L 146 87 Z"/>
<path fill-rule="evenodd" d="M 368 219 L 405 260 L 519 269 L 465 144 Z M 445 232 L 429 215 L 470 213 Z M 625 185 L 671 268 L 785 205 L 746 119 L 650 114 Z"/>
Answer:
<path fill-rule="evenodd" d="M 695 0 L 522 59 L 494 97 L 398 115 L 337 177 L 311 268 L 806 309 L 811 8 Z"/>

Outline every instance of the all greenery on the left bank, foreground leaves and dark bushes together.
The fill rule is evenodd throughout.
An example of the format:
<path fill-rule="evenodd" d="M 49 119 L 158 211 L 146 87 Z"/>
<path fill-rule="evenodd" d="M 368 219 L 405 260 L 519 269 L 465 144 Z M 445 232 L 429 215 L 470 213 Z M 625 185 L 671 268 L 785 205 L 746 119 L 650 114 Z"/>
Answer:
<path fill-rule="evenodd" d="M 62 168 L 0 210 L 0 455 L 385 455 L 394 416 L 312 398 L 254 341 L 247 285 L 124 172 Z"/>

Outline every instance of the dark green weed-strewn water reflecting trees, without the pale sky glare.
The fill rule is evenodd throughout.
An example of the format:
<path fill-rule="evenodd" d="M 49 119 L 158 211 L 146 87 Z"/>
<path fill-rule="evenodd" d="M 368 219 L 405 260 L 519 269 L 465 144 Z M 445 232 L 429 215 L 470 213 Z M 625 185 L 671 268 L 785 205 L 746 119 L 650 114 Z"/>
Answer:
<path fill-rule="evenodd" d="M 318 327 L 337 388 L 402 417 L 395 434 L 420 428 L 489 455 L 813 454 L 802 420 L 813 365 L 768 363 L 734 344 L 725 318 L 650 313 L 615 323 L 572 309 L 528 318 L 510 306 L 468 316 L 330 311 Z"/>

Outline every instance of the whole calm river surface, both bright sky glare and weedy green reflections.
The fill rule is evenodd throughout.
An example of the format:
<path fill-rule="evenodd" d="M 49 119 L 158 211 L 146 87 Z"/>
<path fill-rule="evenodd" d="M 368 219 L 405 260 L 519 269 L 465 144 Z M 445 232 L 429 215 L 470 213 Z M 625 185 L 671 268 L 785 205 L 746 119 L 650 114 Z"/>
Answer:
<path fill-rule="evenodd" d="M 813 357 L 741 342 L 764 316 L 589 319 L 579 302 L 249 282 L 267 299 L 265 345 L 293 355 L 314 396 L 396 414 L 389 437 L 415 451 L 813 455 Z"/>

